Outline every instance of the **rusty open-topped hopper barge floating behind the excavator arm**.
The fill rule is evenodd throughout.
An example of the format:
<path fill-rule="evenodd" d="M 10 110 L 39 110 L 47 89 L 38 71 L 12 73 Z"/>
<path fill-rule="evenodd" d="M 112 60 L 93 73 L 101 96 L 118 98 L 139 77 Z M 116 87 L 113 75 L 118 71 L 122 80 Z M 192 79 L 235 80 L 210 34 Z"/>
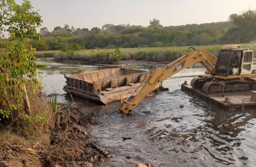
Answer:
<path fill-rule="evenodd" d="M 65 75 L 67 85 L 63 89 L 75 96 L 108 104 L 129 97 L 150 74 L 151 72 L 121 66 L 120 68 Z M 158 88 L 159 86 L 151 93 Z M 136 95 L 135 92 L 133 96 Z"/>

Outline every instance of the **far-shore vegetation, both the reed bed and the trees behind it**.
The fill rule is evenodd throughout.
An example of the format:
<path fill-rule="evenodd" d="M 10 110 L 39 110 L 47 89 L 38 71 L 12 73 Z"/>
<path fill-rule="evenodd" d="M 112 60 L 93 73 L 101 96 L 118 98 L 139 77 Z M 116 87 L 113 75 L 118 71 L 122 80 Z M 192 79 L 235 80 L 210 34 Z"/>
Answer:
<path fill-rule="evenodd" d="M 231 14 L 229 21 L 204 24 L 187 24 L 163 27 L 160 20 L 150 20 L 148 27 L 130 24 L 105 24 L 97 27 L 77 28 L 65 24 L 53 32 L 46 27 L 40 34 L 45 42 L 32 42 L 37 57 L 55 57 L 59 60 L 78 60 L 110 63 L 119 60 L 173 61 L 183 55 L 188 46 L 202 48 L 218 55 L 223 45 L 247 43 L 255 51 L 256 11 Z M 209 46 L 208 46 L 209 45 Z M 82 49 L 87 50 L 82 50 Z M 122 49 L 116 49 L 122 48 Z M 56 51 L 56 50 L 62 50 Z"/>

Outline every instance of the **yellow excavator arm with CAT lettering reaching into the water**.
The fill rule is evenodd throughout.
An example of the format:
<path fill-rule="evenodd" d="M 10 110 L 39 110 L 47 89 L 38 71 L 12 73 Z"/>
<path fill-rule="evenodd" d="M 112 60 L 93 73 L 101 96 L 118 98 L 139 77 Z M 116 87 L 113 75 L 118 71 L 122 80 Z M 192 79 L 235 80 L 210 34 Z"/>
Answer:
<path fill-rule="evenodd" d="M 159 67 L 152 71 L 151 75 L 146 78 L 137 89 L 139 90 L 139 92 L 132 100 L 132 102 L 129 102 L 128 99 L 137 90 L 135 90 L 126 100 L 122 102 L 122 105 L 119 109 L 120 113 L 131 115 L 132 109 L 136 105 L 138 105 L 140 101 L 144 99 L 147 94 L 159 84 L 159 82 L 169 78 L 175 73 L 181 71 L 186 67 L 189 67 L 196 62 L 201 62 L 204 65 L 204 67 L 206 68 L 206 74 L 215 74 L 215 65 L 217 63 L 217 58 L 210 52 L 204 49 L 199 49 L 186 53 L 178 59 L 174 60 L 173 62 L 167 64 L 165 67 Z"/>

